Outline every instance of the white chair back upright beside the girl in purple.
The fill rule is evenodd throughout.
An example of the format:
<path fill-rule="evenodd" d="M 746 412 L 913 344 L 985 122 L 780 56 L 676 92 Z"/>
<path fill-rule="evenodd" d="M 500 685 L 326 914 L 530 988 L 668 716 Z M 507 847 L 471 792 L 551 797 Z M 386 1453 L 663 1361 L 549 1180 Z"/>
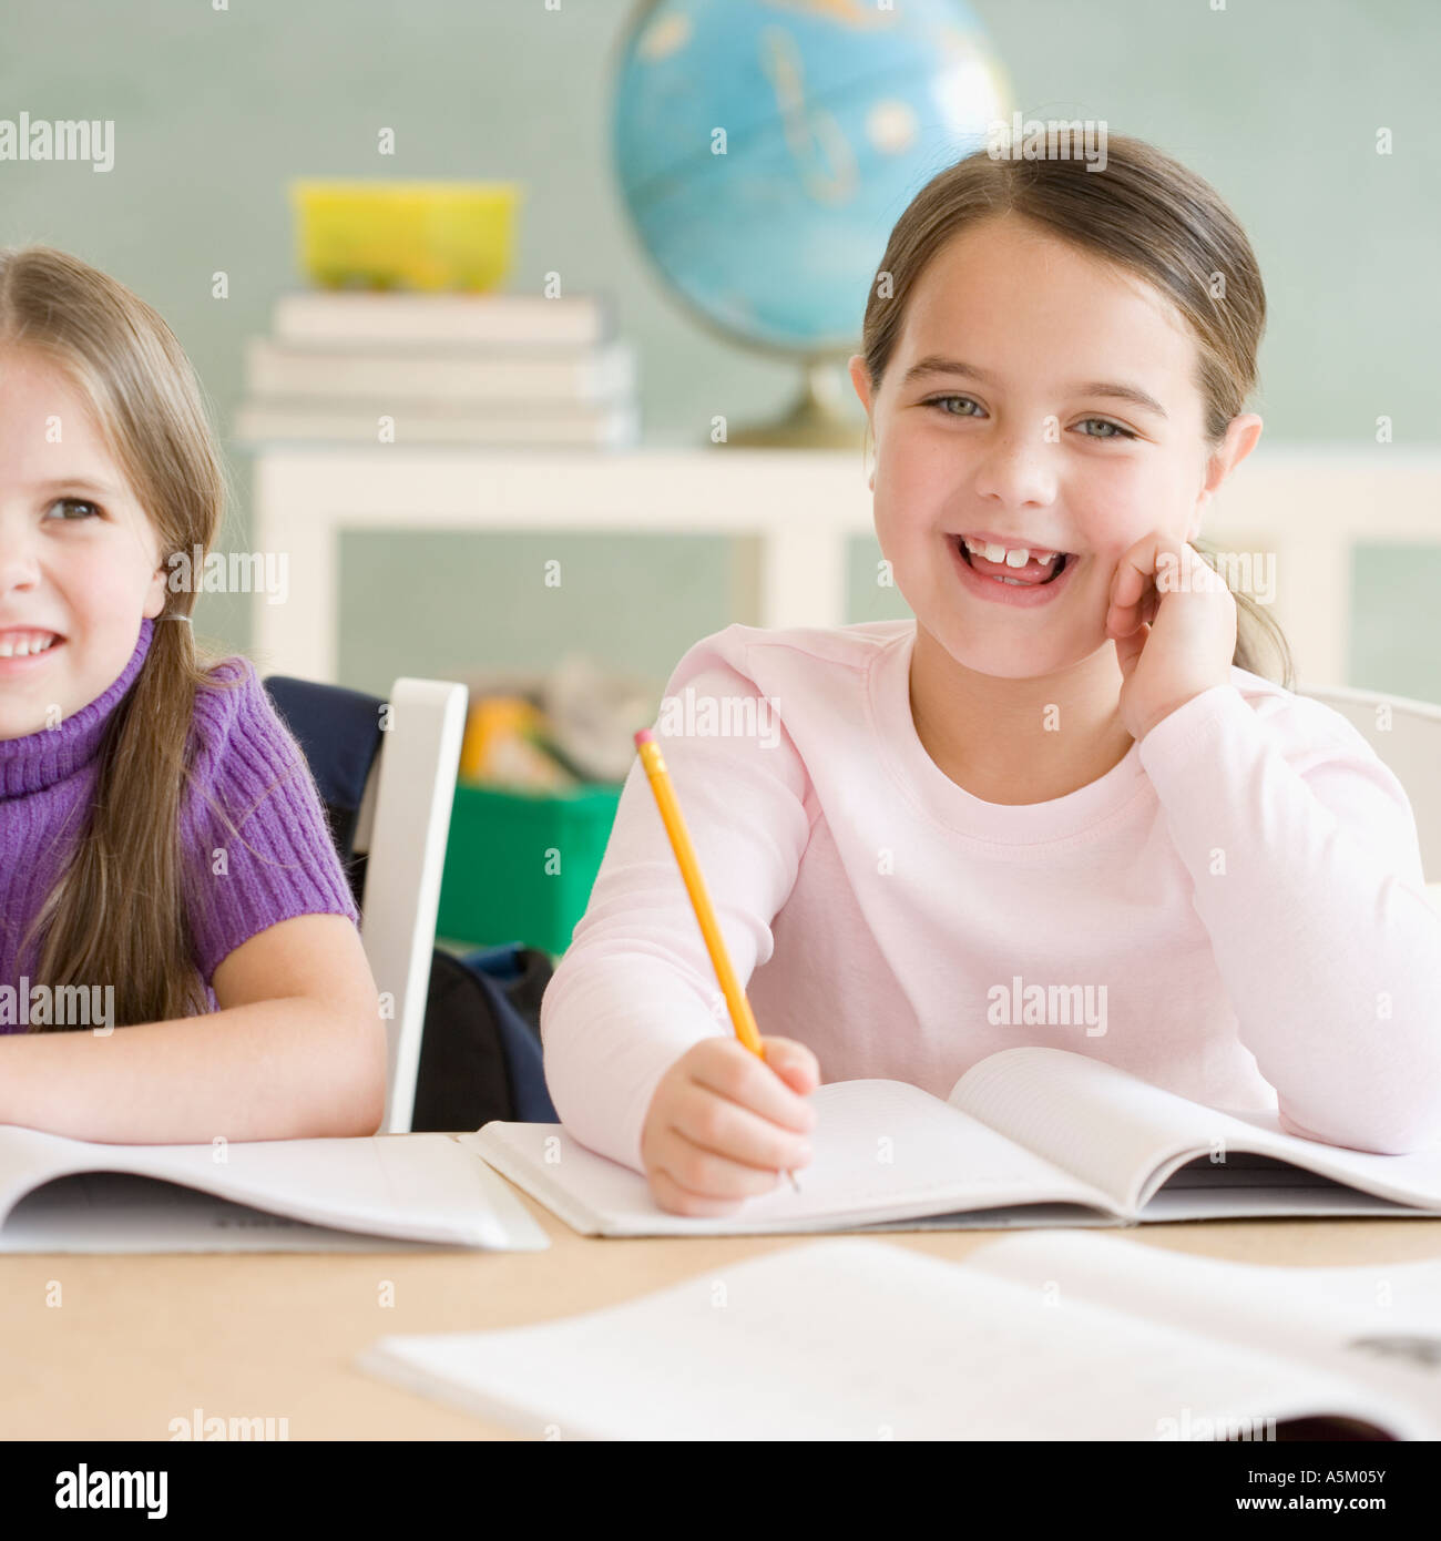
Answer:
<path fill-rule="evenodd" d="M 390 1008 L 382 1134 L 407 1133 L 415 1113 L 467 700 L 462 684 L 396 680 L 388 726 L 356 817 L 353 844 L 367 854 L 361 940 Z"/>

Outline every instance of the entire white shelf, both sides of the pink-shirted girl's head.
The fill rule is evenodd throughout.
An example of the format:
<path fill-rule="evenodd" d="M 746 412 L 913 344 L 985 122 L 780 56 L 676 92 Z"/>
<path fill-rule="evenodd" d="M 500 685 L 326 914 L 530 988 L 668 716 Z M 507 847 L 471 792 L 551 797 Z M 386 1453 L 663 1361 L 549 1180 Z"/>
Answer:
<path fill-rule="evenodd" d="M 472 450 L 253 445 L 253 549 L 287 552 L 290 598 L 254 596 L 265 672 L 334 683 L 342 530 L 754 536 L 755 626 L 841 626 L 846 547 L 872 532 L 860 448 Z M 1299 676 L 1345 680 L 1352 547 L 1441 542 L 1441 452 L 1258 448 L 1202 538 L 1275 553 L 1275 615 Z"/>

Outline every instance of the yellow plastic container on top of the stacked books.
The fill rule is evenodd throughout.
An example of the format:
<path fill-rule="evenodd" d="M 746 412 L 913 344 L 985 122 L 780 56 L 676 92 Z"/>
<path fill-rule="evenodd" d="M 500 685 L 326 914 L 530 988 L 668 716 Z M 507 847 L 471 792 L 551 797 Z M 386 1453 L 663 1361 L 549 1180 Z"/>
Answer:
<path fill-rule="evenodd" d="M 290 183 L 301 270 L 322 288 L 498 288 L 519 199 L 518 182 Z"/>

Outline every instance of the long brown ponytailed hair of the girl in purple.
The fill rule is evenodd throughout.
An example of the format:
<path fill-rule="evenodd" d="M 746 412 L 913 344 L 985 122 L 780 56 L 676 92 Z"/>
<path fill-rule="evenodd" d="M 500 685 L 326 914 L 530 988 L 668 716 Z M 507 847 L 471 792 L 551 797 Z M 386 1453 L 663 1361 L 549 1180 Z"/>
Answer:
<path fill-rule="evenodd" d="M 210 552 L 225 467 L 200 382 L 162 317 L 65 251 L 3 248 L 0 351 L 14 350 L 52 365 L 86 399 L 156 530 L 162 562 L 197 546 Z M 191 954 L 179 812 L 196 692 L 237 681 L 214 678 L 220 658 L 196 644 L 196 587 L 166 584 L 145 663 L 106 721 L 86 826 L 17 954 L 43 932 L 35 982 L 114 985 L 116 1026 L 208 1006 Z M 57 1023 L 31 1031 L 46 1026 Z"/>

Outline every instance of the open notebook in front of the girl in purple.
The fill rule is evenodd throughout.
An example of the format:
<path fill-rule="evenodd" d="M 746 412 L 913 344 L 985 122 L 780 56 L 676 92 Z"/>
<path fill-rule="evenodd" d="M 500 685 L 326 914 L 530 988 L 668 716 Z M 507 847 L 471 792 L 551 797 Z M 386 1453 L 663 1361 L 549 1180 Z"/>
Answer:
<path fill-rule="evenodd" d="M 0 1125 L 0 1253 L 541 1251 L 448 1134 L 100 1145 Z"/>

